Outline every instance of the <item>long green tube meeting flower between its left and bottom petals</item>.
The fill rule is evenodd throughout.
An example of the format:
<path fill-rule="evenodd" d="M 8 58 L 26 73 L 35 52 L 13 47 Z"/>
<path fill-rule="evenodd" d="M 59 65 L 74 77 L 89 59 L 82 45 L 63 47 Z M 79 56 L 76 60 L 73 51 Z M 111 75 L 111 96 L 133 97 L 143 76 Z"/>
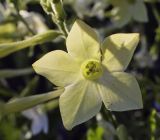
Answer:
<path fill-rule="evenodd" d="M 33 95 L 29 97 L 17 98 L 3 105 L 3 114 L 15 113 L 26 110 L 43 102 L 52 100 L 59 97 L 63 93 L 64 89 L 58 89 L 56 91 Z"/>

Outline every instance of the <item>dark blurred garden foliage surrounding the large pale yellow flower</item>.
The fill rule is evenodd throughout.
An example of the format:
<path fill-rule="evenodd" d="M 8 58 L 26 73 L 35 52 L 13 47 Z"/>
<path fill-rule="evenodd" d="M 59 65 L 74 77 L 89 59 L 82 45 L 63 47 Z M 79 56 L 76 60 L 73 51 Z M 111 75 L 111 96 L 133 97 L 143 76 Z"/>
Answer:
<path fill-rule="evenodd" d="M 96 29 L 101 40 L 113 33 L 140 33 L 139 46 L 127 71 L 140 83 L 144 109 L 117 113 L 103 107 L 95 118 L 66 131 L 58 100 L 54 100 L 1 117 L 0 140 L 160 139 L 160 1 L 63 0 L 63 6 L 69 29 L 80 18 Z M 65 50 L 65 40 L 57 32 L 61 28 L 43 8 L 39 0 L 0 2 L 0 104 L 55 88 L 31 67 L 47 52 Z M 49 29 L 53 29 L 49 40 L 34 36 Z"/>

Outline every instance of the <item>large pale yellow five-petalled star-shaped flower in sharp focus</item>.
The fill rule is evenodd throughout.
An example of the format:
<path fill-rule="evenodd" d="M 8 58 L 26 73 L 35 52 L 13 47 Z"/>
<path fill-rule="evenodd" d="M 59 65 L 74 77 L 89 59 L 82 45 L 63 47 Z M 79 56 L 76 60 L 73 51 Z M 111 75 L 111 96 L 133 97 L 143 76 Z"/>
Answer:
<path fill-rule="evenodd" d="M 143 107 L 136 79 L 123 72 L 138 41 L 137 33 L 121 33 L 100 44 L 94 30 L 76 20 L 66 40 L 68 53 L 52 51 L 33 64 L 38 74 L 65 88 L 59 103 L 66 129 L 92 118 L 102 102 L 112 111 Z"/>

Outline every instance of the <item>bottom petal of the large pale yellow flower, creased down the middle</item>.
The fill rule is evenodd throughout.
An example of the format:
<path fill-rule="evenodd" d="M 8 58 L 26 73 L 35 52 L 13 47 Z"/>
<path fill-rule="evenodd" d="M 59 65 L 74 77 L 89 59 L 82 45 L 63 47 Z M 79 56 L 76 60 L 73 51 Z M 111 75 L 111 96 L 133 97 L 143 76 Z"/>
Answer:
<path fill-rule="evenodd" d="M 80 80 L 69 85 L 60 96 L 60 111 L 65 128 L 71 130 L 89 120 L 100 110 L 101 105 L 96 83 Z"/>

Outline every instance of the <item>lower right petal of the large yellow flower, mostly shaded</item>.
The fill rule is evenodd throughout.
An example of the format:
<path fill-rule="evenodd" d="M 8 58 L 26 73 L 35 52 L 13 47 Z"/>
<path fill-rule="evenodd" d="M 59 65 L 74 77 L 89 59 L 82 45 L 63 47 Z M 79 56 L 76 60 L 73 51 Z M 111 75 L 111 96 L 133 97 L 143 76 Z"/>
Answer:
<path fill-rule="evenodd" d="M 99 92 L 107 109 L 126 111 L 143 107 L 141 91 L 136 79 L 124 72 L 105 73 Z"/>

